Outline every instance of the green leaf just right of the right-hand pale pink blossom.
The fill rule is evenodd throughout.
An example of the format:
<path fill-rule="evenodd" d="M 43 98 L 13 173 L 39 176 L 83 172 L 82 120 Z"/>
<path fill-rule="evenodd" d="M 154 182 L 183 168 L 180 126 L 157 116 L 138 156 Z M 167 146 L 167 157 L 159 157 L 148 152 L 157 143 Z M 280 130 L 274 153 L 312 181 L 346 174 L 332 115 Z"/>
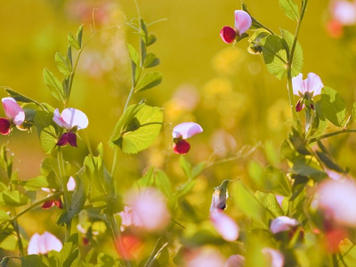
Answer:
<path fill-rule="evenodd" d="M 330 87 L 321 90 L 321 112 L 336 126 L 344 126 L 346 118 L 346 103 L 339 93 Z"/>

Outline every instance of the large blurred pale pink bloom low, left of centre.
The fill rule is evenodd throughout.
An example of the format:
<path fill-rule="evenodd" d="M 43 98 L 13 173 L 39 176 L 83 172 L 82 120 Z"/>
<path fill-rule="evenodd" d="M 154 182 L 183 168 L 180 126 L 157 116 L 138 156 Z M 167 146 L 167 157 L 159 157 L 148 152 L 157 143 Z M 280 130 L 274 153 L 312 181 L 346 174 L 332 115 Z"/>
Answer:
<path fill-rule="evenodd" d="M 166 228 L 169 223 L 169 213 L 166 207 L 166 198 L 153 188 L 131 192 L 127 196 L 127 204 L 134 210 L 131 223 L 139 224 L 146 231 L 159 231 Z M 127 211 L 127 210 L 126 210 Z M 128 219 L 125 217 L 125 219 Z M 128 223 L 128 222 L 125 222 Z"/>

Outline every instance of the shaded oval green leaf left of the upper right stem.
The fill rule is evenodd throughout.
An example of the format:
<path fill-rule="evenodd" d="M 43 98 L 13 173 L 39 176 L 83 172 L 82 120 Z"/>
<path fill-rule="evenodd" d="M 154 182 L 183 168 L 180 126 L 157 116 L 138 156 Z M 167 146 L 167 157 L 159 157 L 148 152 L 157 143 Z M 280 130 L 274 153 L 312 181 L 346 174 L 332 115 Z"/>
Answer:
<path fill-rule="evenodd" d="M 287 50 L 279 36 L 267 36 L 263 44 L 263 60 L 267 70 L 281 80 L 287 75 Z"/>

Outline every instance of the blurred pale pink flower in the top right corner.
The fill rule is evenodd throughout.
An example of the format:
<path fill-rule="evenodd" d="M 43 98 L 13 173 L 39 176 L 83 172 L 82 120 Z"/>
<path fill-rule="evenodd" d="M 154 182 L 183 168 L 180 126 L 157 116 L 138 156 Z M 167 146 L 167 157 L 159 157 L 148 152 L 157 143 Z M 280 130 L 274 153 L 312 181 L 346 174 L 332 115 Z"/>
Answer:
<path fill-rule="evenodd" d="M 347 0 L 336 0 L 330 4 L 333 20 L 344 26 L 356 24 L 356 4 Z"/>

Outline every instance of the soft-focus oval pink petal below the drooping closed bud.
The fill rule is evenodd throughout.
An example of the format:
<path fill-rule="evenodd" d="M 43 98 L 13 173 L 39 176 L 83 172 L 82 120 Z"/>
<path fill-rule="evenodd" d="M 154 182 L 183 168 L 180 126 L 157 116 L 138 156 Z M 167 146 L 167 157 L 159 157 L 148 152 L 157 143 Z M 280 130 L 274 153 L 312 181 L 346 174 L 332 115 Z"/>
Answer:
<path fill-rule="evenodd" d="M 226 241 L 239 239 L 239 226 L 229 215 L 224 213 L 211 213 L 210 221 L 214 224 L 215 230 L 220 233 Z"/>

